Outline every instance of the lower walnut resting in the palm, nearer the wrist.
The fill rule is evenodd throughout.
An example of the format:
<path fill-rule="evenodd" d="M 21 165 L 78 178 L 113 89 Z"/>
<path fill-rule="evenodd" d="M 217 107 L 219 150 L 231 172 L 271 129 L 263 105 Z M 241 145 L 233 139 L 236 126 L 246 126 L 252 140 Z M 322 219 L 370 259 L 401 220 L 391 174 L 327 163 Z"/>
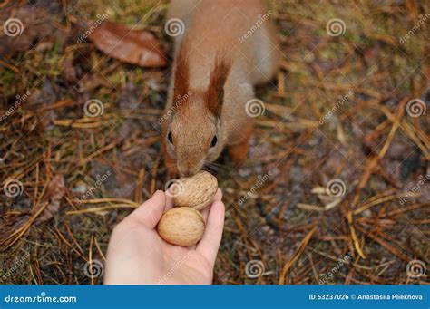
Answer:
<path fill-rule="evenodd" d="M 157 226 L 161 238 L 176 246 L 195 245 L 203 237 L 204 228 L 203 217 L 193 208 L 171 208 Z"/>

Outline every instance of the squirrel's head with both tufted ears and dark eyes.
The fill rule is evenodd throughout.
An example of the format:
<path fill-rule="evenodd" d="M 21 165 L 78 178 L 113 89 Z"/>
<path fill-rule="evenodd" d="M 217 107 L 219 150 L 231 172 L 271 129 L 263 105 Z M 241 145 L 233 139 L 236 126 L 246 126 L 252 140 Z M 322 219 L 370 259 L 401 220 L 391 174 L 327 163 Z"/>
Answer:
<path fill-rule="evenodd" d="M 217 55 L 205 91 L 190 84 L 188 57 L 181 45 L 176 57 L 171 115 L 163 130 L 165 149 L 181 176 L 191 176 L 216 160 L 224 147 L 221 112 L 231 63 Z"/>

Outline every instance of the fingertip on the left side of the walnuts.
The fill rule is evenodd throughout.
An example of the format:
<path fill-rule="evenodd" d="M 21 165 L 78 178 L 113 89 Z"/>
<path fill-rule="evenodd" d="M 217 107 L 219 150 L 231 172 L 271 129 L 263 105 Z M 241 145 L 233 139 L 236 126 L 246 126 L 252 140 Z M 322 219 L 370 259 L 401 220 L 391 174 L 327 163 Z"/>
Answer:
<path fill-rule="evenodd" d="M 153 194 L 152 198 L 134 210 L 129 217 L 142 222 L 146 227 L 154 228 L 160 221 L 165 205 L 166 195 L 163 191 L 158 190 Z"/>

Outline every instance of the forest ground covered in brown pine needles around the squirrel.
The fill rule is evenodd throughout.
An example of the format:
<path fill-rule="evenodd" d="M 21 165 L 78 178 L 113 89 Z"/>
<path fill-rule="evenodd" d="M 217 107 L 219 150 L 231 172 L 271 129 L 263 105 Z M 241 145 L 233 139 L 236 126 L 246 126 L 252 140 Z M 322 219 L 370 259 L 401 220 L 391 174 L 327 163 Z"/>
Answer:
<path fill-rule="evenodd" d="M 169 180 L 167 5 L 0 5 L 1 284 L 102 283 L 88 268 L 103 268 L 112 228 Z M 414 0 L 270 3 L 282 69 L 257 91 L 249 158 L 216 166 L 215 284 L 428 284 L 428 13 Z M 169 64 L 85 40 L 82 21 L 106 15 L 151 31 Z M 5 35 L 12 17 L 22 34 Z"/>

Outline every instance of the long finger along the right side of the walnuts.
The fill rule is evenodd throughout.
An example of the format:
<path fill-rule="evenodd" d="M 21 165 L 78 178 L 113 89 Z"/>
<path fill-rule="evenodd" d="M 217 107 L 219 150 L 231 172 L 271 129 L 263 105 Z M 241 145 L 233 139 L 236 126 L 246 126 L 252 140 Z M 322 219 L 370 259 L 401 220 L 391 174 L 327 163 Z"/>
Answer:
<path fill-rule="evenodd" d="M 220 248 L 224 216 L 224 204 L 220 201 L 214 202 L 210 207 L 205 232 L 196 248 L 196 250 L 208 260 L 211 267 L 215 265 L 218 249 Z"/>

